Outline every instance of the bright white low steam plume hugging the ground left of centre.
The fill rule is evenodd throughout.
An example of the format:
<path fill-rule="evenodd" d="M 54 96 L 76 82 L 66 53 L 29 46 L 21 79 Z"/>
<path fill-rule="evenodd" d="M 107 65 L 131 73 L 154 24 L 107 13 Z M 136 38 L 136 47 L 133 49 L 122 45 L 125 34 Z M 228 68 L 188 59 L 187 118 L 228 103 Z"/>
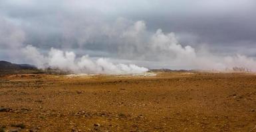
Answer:
<path fill-rule="evenodd" d="M 144 67 L 133 64 L 114 64 L 106 58 L 93 60 L 88 55 L 76 57 L 72 51 L 61 51 L 55 48 L 51 48 L 47 56 L 39 53 L 38 49 L 31 45 L 23 48 L 22 52 L 40 69 L 51 67 L 71 73 L 86 74 L 136 74 L 148 71 Z"/>

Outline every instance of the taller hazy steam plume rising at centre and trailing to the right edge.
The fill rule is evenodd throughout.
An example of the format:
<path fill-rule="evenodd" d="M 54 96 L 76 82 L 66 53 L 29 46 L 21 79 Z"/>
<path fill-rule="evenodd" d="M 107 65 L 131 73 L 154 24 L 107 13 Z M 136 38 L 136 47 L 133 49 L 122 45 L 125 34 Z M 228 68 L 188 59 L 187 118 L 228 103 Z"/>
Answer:
<path fill-rule="evenodd" d="M 122 23 L 122 24 L 120 24 Z M 149 67 L 173 67 L 174 69 L 225 70 L 244 67 L 256 71 L 256 61 L 245 55 L 215 55 L 205 48 L 183 46 L 174 32 L 164 33 L 161 29 L 149 32 L 144 21 L 128 24 L 120 30 L 119 25 L 127 21 L 119 18 L 116 25 L 105 28 L 109 40 L 117 43 L 118 55 L 128 59 L 151 61 Z M 115 28 L 117 26 L 117 28 Z M 106 30 L 107 29 L 107 30 Z M 117 40 L 116 40 L 117 39 Z M 118 43 L 119 42 L 119 43 Z"/>

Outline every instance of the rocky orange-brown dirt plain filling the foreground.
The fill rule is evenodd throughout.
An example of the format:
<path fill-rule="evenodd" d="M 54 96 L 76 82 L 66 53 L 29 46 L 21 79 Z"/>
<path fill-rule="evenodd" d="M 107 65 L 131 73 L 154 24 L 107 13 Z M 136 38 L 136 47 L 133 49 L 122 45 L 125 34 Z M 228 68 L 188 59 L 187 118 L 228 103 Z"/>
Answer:
<path fill-rule="evenodd" d="M 0 78 L 0 131 L 256 131 L 256 75 Z"/>

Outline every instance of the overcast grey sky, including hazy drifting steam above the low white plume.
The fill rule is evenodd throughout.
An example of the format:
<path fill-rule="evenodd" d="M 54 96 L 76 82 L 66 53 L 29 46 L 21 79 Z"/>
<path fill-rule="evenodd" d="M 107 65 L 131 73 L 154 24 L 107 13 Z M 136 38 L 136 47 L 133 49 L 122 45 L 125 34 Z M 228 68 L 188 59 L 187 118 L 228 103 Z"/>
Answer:
<path fill-rule="evenodd" d="M 255 14 L 254 0 L 0 0 L 0 59 L 43 67 L 60 50 L 74 63 L 254 70 Z"/>

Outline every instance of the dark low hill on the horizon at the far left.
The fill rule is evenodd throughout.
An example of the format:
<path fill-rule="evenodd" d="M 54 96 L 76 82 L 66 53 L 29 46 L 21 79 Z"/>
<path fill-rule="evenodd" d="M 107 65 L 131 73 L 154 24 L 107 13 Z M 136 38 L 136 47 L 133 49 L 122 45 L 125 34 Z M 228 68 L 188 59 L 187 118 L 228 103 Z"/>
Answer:
<path fill-rule="evenodd" d="M 15 63 L 10 63 L 8 61 L 0 61 L 0 70 L 35 70 L 37 67 L 34 65 L 29 65 L 29 64 L 15 64 Z"/>

